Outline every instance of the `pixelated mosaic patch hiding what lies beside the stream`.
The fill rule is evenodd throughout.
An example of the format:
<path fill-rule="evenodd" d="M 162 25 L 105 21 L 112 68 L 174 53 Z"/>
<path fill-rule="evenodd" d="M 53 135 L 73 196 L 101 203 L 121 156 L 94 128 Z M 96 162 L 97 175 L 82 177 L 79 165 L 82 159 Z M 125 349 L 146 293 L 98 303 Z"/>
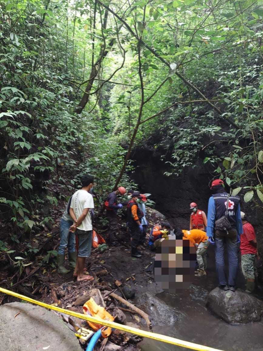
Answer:
<path fill-rule="evenodd" d="M 169 236 L 157 247 L 154 277 L 158 286 L 166 292 L 188 289 L 195 275 L 196 250 L 186 238 Z"/>

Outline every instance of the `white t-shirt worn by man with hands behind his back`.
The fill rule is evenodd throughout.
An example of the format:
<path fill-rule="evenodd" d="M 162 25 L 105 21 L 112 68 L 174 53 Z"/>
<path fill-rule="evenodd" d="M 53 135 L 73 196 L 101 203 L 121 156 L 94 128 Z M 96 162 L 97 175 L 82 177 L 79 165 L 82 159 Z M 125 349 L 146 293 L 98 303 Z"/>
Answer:
<path fill-rule="evenodd" d="M 72 196 L 70 208 L 73 208 L 76 218 L 78 219 L 84 208 L 94 208 L 93 197 L 86 190 L 78 190 Z M 85 219 L 77 227 L 80 230 L 92 230 L 92 221 L 90 211 L 88 212 Z"/>

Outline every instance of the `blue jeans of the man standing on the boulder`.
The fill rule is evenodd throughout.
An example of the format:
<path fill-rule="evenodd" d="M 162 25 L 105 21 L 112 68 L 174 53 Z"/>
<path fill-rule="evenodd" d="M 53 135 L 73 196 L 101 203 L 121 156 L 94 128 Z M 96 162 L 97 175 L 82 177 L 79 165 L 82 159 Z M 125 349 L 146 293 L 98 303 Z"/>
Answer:
<path fill-rule="evenodd" d="M 235 229 L 229 230 L 228 234 L 221 230 L 215 231 L 216 271 L 220 285 L 227 285 L 224 272 L 224 246 L 227 247 L 228 253 L 228 285 L 235 285 L 238 271 L 237 231 Z"/>

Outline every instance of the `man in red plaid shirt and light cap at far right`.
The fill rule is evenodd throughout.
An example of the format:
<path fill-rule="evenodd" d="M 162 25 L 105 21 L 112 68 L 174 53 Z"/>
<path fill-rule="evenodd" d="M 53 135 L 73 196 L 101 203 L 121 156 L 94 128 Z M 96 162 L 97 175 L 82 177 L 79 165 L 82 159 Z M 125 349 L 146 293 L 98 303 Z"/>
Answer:
<path fill-rule="evenodd" d="M 246 279 L 246 292 L 253 292 L 255 289 L 255 277 L 257 271 L 255 259 L 257 253 L 257 239 L 253 226 L 245 219 L 245 213 L 241 212 L 243 234 L 240 237 L 241 267 Z"/>

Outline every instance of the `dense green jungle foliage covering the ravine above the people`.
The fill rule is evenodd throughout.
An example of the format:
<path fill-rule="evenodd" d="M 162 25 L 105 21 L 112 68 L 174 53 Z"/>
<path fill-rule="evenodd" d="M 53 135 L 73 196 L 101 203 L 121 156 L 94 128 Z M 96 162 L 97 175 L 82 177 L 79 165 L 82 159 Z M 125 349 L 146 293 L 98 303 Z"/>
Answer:
<path fill-rule="evenodd" d="M 262 17 L 251 0 L 0 2 L 2 218 L 29 231 L 86 172 L 102 203 L 133 143 L 262 206 Z"/>

